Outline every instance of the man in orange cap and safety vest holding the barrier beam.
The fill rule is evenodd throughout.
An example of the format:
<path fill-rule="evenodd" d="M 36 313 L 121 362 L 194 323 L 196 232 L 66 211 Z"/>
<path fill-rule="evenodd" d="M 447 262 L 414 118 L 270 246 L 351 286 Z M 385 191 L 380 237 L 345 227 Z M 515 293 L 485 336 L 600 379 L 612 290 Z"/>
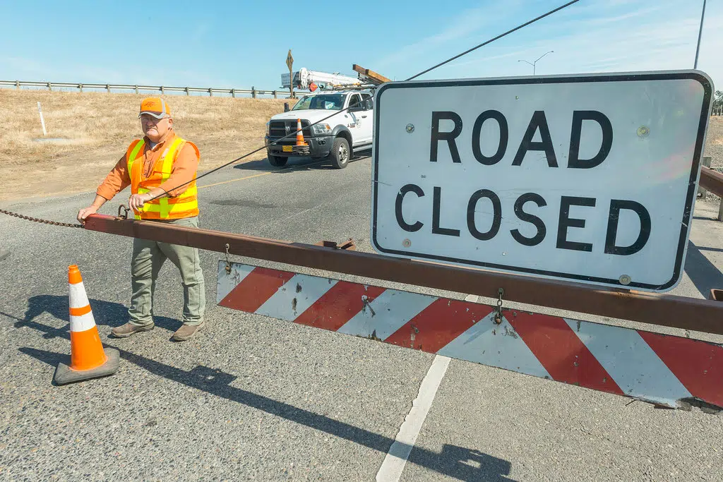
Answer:
<path fill-rule="evenodd" d="M 125 155 L 98 186 L 93 204 L 78 212 L 78 220 L 83 223 L 106 201 L 131 186 L 128 206 L 136 219 L 197 228 L 198 148 L 176 136 L 171 108 L 163 99 L 142 100 L 138 117 L 145 136 L 131 142 Z M 174 340 L 189 340 L 204 327 L 205 291 L 198 250 L 134 238 L 129 322 L 111 330 L 113 335 L 129 337 L 153 330 L 155 281 L 166 259 L 181 272 L 184 288 L 183 326 L 174 333 Z"/>

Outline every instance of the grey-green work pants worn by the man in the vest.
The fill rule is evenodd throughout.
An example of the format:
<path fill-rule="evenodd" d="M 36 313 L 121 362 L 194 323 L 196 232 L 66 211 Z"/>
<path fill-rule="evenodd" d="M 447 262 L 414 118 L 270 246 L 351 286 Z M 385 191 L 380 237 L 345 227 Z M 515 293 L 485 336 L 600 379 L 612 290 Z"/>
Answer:
<path fill-rule="evenodd" d="M 198 218 L 159 222 L 198 227 Z M 170 259 L 181 272 L 181 286 L 184 292 L 183 323 L 200 324 L 205 311 L 206 292 L 198 249 L 139 238 L 133 239 L 129 322 L 139 326 L 153 324 L 155 281 L 166 259 Z"/>

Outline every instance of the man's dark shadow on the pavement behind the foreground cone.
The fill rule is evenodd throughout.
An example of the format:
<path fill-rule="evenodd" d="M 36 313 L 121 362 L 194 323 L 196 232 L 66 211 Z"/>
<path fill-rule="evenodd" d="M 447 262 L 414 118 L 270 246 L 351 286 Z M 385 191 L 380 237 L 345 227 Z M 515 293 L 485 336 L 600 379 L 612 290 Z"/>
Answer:
<path fill-rule="evenodd" d="M 106 325 L 109 327 L 118 327 L 128 321 L 128 308 L 120 303 L 111 303 L 109 301 L 90 300 L 90 308 L 93 309 L 93 318 L 95 324 Z M 58 295 L 38 295 L 27 300 L 27 310 L 24 318 L 14 317 L 11 314 L 1 313 L 12 319 L 17 319 L 14 327 L 30 327 L 45 333 L 43 337 L 63 337 L 70 339 L 68 334 L 68 326 L 62 328 L 48 327 L 46 324 L 34 322 L 33 320 L 43 313 L 51 314 L 52 317 L 64 321 L 69 324 L 69 301 L 67 296 Z M 181 327 L 181 321 L 167 317 L 153 317 L 157 327 L 166 330 L 175 331 Z"/>

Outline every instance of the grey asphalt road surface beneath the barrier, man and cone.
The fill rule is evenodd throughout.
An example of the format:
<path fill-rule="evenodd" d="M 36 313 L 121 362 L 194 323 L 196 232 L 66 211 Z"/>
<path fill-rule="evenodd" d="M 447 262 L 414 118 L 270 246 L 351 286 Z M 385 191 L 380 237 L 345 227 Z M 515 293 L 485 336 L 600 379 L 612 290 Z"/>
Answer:
<path fill-rule="evenodd" d="M 206 186 L 200 190 L 201 226 L 311 243 L 352 237 L 358 249 L 372 251 L 370 170 L 369 158 L 341 171 L 308 161 L 281 171 L 262 162 L 228 168 L 200 183 Z M 3 207 L 73 222 L 91 199 L 87 193 Z M 114 213 L 121 200 L 102 212 Z M 714 215 L 715 207 L 698 203 L 685 279 L 675 294 L 703 298 L 710 288 L 723 287 L 723 227 L 711 220 Z M 434 358 L 221 309 L 214 302 L 221 256 L 211 252 L 202 252 L 208 297 L 202 335 L 186 343 L 170 340 L 180 326 L 182 293 L 168 263 L 155 297 L 156 329 L 108 338 L 126 321 L 128 238 L 7 216 L 0 217 L 0 232 L 0 251 L 8 251 L 0 261 L 1 480 L 374 480 Z M 80 265 L 101 338 L 121 350 L 121 368 L 114 376 L 55 386 L 56 366 L 69 357 L 69 264 Z M 722 478 L 721 415 L 659 410 L 457 360 L 450 362 L 401 476 Z"/>

